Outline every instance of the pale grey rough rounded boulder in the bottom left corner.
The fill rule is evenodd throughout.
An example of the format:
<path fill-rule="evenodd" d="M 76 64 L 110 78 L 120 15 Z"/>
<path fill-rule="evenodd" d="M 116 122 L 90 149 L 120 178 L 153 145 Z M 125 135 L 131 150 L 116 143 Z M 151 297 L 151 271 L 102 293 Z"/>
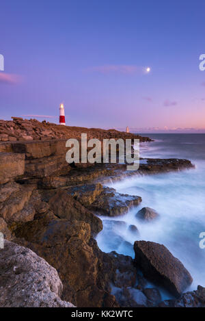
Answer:
<path fill-rule="evenodd" d="M 29 248 L 5 241 L 0 250 L 0 307 L 74 307 L 60 299 L 57 270 Z"/>

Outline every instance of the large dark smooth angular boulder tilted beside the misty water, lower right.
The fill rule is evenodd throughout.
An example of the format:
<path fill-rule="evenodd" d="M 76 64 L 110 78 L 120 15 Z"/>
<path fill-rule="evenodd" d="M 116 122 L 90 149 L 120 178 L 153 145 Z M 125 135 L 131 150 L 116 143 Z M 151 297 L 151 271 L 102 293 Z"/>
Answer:
<path fill-rule="evenodd" d="M 178 297 L 191 285 L 191 274 L 163 245 L 154 242 L 136 241 L 135 262 L 145 277 L 165 287 Z"/>

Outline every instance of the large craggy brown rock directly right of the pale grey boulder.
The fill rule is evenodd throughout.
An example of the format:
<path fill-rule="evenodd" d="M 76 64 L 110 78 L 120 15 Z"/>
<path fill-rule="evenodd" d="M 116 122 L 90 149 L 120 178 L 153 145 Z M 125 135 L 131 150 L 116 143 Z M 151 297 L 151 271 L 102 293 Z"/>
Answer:
<path fill-rule="evenodd" d="M 98 257 L 89 245 L 90 225 L 85 222 L 69 222 L 65 219 L 49 218 L 44 215 L 38 220 L 27 222 L 15 231 L 18 242 L 23 242 L 59 272 L 64 284 L 63 298 L 78 307 L 92 307 L 90 300 L 95 295 L 96 307 L 109 298 L 109 292 L 98 288 Z M 16 241 L 16 242 L 17 242 Z M 69 281 L 69 282 L 68 282 Z M 94 289 L 98 288 L 98 292 Z M 111 300 L 111 301 L 110 301 Z"/>

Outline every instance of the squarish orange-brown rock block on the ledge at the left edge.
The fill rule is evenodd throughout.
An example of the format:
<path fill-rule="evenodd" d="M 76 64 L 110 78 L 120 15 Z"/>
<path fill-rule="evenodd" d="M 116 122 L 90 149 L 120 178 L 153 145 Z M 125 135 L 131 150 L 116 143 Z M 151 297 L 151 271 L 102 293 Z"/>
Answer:
<path fill-rule="evenodd" d="M 24 171 L 24 154 L 0 153 L 0 184 L 18 179 Z"/>

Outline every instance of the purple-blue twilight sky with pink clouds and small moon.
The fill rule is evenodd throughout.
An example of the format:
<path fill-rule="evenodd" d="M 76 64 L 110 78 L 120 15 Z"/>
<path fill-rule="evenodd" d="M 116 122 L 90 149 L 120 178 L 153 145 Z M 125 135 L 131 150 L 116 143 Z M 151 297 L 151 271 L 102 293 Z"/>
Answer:
<path fill-rule="evenodd" d="M 204 0 L 3 0 L 0 118 L 205 132 L 204 30 Z"/>

